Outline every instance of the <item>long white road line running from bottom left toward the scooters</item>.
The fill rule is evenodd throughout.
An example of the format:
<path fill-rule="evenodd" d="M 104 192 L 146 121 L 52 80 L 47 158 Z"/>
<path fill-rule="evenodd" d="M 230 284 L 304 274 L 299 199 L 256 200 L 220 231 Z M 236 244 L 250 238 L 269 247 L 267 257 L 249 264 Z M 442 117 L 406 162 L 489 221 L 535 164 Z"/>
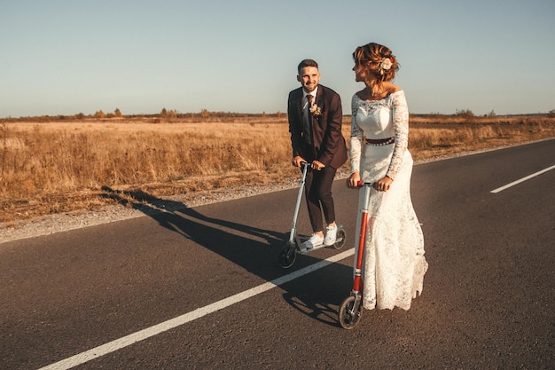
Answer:
<path fill-rule="evenodd" d="M 223 310 L 224 308 L 229 307 L 232 304 L 244 301 L 247 298 L 253 297 L 254 295 L 260 295 L 261 293 L 267 290 L 270 290 L 274 287 L 279 287 L 285 283 L 288 283 L 293 279 L 301 278 L 301 276 L 307 275 L 310 272 L 315 272 L 329 264 L 334 264 L 342 259 L 347 258 L 348 256 L 353 256 L 354 253 L 355 253 L 355 249 L 350 248 L 345 252 L 340 253 L 339 255 L 332 256 L 328 259 L 318 262 L 317 264 L 311 264 L 305 268 L 302 268 L 301 270 L 298 270 L 296 272 L 291 272 L 285 276 L 282 276 L 281 278 L 277 278 L 277 279 L 273 279 L 271 281 L 265 282 L 264 284 L 261 284 L 258 287 L 253 287 L 244 292 L 238 293 L 237 295 L 231 295 L 230 297 L 224 298 L 221 301 L 208 304 L 205 307 L 200 307 L 195 311 L 185 313 L 184 315 L 178 316 L 174 319 L 168 319 L 167 321 L 161 322 L 160 324 L 154 325 L 152 327 L 147 327 L 136 333 L 126 335 L 119 339 L 116 339 L 112 342 L 107 342 L 106 344 L 102 344 L 91 350 L 86 350 L 70 358 L 63 359 L 49 366 L 44 366 L 39 370 L 62 370 L 62 369 L 69 369 L 74 366 L 82 365 L 85 362 L 90 361 L 91 359 L 99 358 L 101 356 L 107 355 L 108 353 L 112 353 L 116 350 L 121 350 L 122 348 L 127 347 L 133 343 L 144 341 L 145 339 L 148 339 L 151 336 L 159 335 L 160 333 L 166 332 L 175 327 L 182 326 L 188 322 L 191 322 L 192 320 L 199 319 L 203 316 L 206 316 L 209 313 Z"/>

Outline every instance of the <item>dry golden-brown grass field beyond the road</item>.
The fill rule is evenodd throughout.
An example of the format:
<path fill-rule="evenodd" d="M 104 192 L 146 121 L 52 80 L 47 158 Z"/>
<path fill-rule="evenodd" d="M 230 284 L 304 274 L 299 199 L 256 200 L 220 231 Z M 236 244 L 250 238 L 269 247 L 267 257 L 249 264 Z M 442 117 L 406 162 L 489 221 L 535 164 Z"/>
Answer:
<path fill-rule="evenodd" d="M 421 161 L 555 138 L 551 115 L 411 115 L 410 151 Z M 347 141 L 349 130 L 346 116 Z M 171 122 L 141 117 L 3 120 L 0 222 L 98 209 L 116 202 L 108 191 L 163 197 L 277 184 L 298 177 L 290 157 L 282 114 Z"/>

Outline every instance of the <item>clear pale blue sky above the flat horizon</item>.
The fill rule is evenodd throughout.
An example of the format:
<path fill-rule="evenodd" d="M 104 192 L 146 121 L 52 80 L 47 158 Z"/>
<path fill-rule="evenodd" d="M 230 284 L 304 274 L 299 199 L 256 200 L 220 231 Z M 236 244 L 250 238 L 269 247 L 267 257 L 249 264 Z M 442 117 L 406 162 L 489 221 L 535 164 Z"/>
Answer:
<path fill-rule="evenodd" d="M 370 42 L 411 113 L 555 109 L 553 0 L 0 0 L 0 117 L 286 112 L 305 58 L 350 114 Z"/>

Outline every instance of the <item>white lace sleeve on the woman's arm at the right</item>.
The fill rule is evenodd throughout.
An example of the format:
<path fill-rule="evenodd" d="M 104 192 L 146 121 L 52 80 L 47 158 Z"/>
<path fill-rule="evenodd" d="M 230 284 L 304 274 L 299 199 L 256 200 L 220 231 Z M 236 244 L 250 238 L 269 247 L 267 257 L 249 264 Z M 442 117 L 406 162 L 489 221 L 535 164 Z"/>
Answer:
<path fill-rule="evenodd" d="M 409 146 L 409 106 L 407 106 L 407 99 L 403 91 L 395 92 L 392 94 L 392 98 L 395 148 L 386 176 L 395 179 L 395 175 L 401 168 L 404 154 Z"/>

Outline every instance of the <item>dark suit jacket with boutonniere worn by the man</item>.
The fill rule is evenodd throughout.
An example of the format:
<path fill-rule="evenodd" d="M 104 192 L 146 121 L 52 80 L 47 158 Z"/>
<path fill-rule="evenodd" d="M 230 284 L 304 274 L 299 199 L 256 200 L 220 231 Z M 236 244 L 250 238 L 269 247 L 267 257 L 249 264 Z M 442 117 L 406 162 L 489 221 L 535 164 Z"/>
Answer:
<path fill-rule="evenodd" d="M 293 157 L 300 155 L 307 161 L 321 161 L 325 166 L 339 169 L 347 161 L 347 146 L 341 133 L 343 111 L 341 98 L 332 89 L 318 85 L 315 104 L 321 108 L 321 114 L 312 118 L 312 146 L 303 138 L 302 98 L 305 95 L 302 87 L 289 93 L 287 115 Z"/>

